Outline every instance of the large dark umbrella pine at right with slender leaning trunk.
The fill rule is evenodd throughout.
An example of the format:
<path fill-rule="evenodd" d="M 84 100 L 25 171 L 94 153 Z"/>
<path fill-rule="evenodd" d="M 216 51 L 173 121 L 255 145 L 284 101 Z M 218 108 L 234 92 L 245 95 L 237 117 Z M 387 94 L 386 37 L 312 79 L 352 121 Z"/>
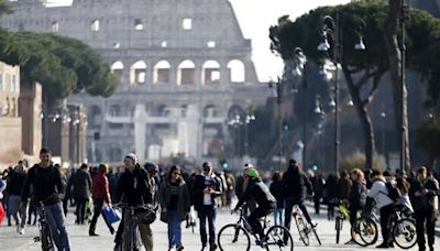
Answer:
<path fill-rule="evenodd" d="M 383 0 L 355 1 L 344 6 L 322 7 L 295 21 L 280 17 L 277 25 L 270 28 L 271 50 L 283 59 L 294 58 L 295 48 L 301 47 L 307 57 L 317 64 L 333 58 L 332 51 L 322 53 L 317 45 L 322 41 L 322 18 L 340 17 L 342 55 L 340 64 L 348 89 L 356 108 L 365 139 L 366 167 L 373 165 L 374 133 L 367 107 L 374 98 L 382 76 L 389 70 L 384 42 L 387 4 Z M 354 50 L 359 36 L 355 28 L 362 18 L 366 23 L 364 42 L 366 51 Z M 430 90 L 440 90 L 440 21 L 427 12 L 410 9 L 407 21 L 407 68 L 420 72 L 430 83 Z M 334 40 L 330 40 L 334 45 Z M 432 99 L 435 94 L 430 94 Z M 437 95 L 438 97 L 438 95 Z"/>

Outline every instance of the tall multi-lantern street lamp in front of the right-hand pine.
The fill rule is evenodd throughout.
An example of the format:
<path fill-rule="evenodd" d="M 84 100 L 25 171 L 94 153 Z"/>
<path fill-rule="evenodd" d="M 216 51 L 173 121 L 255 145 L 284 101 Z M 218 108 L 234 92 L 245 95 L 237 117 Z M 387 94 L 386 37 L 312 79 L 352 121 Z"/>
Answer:
<path fill-rule="evenodd" d="M 355 32 L 359 36 L 359 42 L 354 45 L 354 50 L 364 51 L 365 44 L 363 42 L 363 33 L 365 31 L 366 24 L 365 21 L 359 18 L 359 25 L 355 28 Z M 340 129 L 339 129 L 339 83 L 338 83 L 338 67 L 341 63 L 342 58 L 342 35 L 340 32 L 340 14 L 336 13 L 336 19 L 330 15 L 326 15 L 322 19 L 322 42 L 318 45 L 318 51 L 328 52 L 332 50 L 333 58 L 332 63 L 334 65 L 334 94 L 332 103 L 334 105 L 334 172 L 338 174 L 339 172 L 339 138 L 340 138 Z M 332 44 L 329 43 L 329 37 L 332 40 Z M 326 68 L 322 68 L 326 70 Z"/>

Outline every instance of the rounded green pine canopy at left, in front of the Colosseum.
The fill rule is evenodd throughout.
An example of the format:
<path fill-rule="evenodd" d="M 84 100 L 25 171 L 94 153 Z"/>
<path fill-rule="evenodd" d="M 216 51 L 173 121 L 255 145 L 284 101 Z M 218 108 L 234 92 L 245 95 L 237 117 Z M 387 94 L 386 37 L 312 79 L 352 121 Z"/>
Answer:
<path fill-rule="evenodd" d="M 29 52 L 21 69 L 23 85 L 41 83 L 50 105 L 81 90 L 108 97 L 117 87 L 109 65 L 78 40 L 32 32 L 16 32 L 13 39 Z"/>

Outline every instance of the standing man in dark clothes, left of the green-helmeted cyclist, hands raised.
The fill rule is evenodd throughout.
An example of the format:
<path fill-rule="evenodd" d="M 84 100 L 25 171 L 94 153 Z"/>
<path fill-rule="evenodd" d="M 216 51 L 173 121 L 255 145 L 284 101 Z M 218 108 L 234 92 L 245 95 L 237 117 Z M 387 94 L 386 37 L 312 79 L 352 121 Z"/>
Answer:
<path fill-rule="evenodd" d="M 208 221 L 209 248 L 210 251 L 213 251 L 217 249 L 216 217 L 217 208 L 220 206 L 221 181 L 213 174 L 210 162 L 205 162 L 202 170 L 204 172 L 194 179 L 191 196 L 200 221 L 201 250 L 206 250 L 208 244 L 206 230 L 206 222 Z"/>

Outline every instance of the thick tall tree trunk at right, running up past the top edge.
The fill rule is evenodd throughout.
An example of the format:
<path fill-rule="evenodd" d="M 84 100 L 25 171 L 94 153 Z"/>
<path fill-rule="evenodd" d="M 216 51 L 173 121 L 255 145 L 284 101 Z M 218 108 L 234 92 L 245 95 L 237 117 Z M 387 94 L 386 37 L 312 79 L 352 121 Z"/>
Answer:
<path fill-rule="evenodd" d="M 409 145 L 408 145 L 408 117 L 407 117 L 407 90 L 403 86 L 402 53 L 398 46 L 397 32 L 400 18 L 403 0 L 388 0 L 388 14 L 384 29 L 385 46 L 389 57 L 389 72 L 393 84 L 393 101 L 395 111 L 395 127 L 398 132 L 399 148 L 405 144 L 404 168 L 409 168 Z M 404 130 L 404 133 L 403 133 Z M 402 150 L 400 150 L 402 151 Z"/>

